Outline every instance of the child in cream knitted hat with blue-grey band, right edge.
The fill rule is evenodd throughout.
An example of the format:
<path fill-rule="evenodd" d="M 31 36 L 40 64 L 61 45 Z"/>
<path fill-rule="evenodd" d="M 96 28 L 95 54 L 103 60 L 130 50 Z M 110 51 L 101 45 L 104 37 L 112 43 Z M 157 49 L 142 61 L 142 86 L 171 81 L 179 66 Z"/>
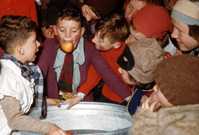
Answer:
<path fill-rule="evenodd" d="M 199 2 L 178 0 L 171 13 L 174 26 L 171 37 L 176 39 L 176 55 L 190 53 L 199 56 Z M 181 52 L 182 51 L 182 52 Z"/>

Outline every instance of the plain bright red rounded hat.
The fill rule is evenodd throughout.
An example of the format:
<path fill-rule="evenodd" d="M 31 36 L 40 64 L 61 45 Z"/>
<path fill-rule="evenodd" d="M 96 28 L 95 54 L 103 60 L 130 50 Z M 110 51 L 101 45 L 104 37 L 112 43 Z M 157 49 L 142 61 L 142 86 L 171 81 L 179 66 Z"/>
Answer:
<path fill-rule="evenodd" d="M 135 28 L 147 37 L 159 38 L 172 32 L 169 12 L 162 6 L 147 4 L 133 18 Z"/>

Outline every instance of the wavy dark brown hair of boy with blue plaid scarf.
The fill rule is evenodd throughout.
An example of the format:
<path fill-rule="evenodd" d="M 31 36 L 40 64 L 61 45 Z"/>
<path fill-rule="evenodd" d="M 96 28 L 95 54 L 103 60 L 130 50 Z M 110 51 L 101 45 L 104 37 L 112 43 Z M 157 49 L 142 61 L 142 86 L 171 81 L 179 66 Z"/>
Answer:
<path fill-rule="evenodd" d="M 0 23 L 0 45 L 7 53 L 11 54 L 19 43 L 25 43 L 30 32 L 36 32 L 37 25 L 25 16 L 6 15 Z"/>

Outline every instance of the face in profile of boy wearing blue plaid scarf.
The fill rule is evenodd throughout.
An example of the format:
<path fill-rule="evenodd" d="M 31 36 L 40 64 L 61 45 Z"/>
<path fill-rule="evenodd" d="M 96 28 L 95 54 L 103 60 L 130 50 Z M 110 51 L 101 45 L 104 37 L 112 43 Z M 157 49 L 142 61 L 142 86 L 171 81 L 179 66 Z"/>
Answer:
<path fill-rule="evenodd" d="M 21 52 L 23 53 L 22 63 L 34 62 L 36 52 L 39 51 L 40 43 L 36 40 L 36 32 L 31 32 L 27 41 L 22 44 Z"/>

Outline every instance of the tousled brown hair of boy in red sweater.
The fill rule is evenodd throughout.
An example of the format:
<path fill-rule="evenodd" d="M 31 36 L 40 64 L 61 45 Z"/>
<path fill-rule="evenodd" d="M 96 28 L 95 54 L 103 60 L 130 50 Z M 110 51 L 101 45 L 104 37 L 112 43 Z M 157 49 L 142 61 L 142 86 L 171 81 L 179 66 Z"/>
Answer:
<path fill-rule="evenodd" d="M 97 22 L 95 31 L 100 32 L 100 38 L 109 38 L 111 43 L 125 41 L 130 33 L 129 25 L 124 16 L 112 14 Z"/>

